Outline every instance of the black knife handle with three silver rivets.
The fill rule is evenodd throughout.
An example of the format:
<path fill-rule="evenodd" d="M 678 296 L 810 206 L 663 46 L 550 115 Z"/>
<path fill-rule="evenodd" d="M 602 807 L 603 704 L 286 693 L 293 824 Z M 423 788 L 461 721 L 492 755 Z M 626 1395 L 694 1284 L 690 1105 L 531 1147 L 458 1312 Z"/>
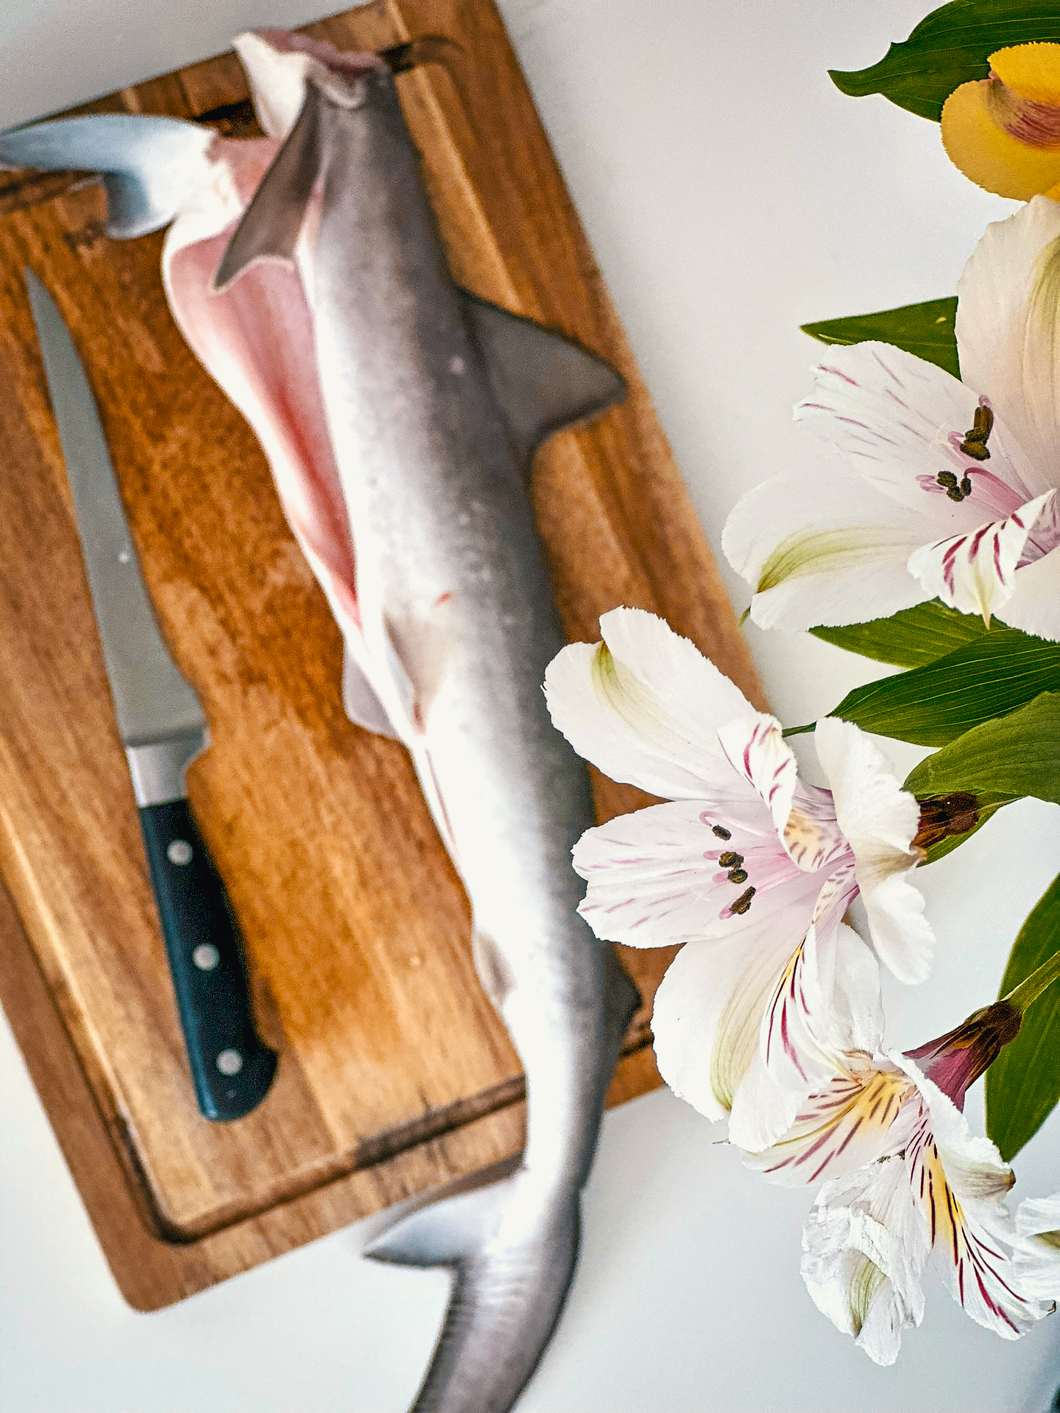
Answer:
<path fill-rule="evenodd" d="M 239 1119 L 266 1096 L 277 1054 L 254 1029 L 232 904 L 187 800 L 144 805 L 140 827 L 199 1109 Z"/>

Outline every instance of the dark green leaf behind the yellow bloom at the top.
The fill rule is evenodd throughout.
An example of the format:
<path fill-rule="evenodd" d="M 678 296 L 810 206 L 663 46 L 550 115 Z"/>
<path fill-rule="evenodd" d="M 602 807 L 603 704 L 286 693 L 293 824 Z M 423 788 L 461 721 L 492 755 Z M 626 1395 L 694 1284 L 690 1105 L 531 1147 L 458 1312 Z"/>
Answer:
<path fill-rule="evenodd" d="M 921 20 L 903 44 L 892 44 L 879 64 L 830 75 L 844 93 L 882 93 L 938 122 L 955 88 L 987 78 L 995 49 L 1032 40 L 1060 40 L 1057 0 L 953 0 Z"/>

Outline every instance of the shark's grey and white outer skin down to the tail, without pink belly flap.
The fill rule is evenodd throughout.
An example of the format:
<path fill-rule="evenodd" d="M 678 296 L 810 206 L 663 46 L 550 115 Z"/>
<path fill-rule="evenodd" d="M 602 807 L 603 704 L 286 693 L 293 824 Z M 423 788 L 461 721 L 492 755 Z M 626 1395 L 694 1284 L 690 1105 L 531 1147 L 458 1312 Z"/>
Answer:
<path fill-rule="evenodd" d="M 585 767 L 541 682 L 563 646 L 526 486 L 534 445 L 622 393 L 565 341 L 459 291 L 386 73 L 310 82 L 218 270 L 293 256 L 321 191 L 318 365 L 373 688 L 472 903 L 475 959 L 527 1077 L 522 1167 L 404 1218 L 366 1255 L 455 1270 L 414 1407 L 506 1413 L 560 1316 L 579 1191 L 636 991 L 577 913 Z"/>

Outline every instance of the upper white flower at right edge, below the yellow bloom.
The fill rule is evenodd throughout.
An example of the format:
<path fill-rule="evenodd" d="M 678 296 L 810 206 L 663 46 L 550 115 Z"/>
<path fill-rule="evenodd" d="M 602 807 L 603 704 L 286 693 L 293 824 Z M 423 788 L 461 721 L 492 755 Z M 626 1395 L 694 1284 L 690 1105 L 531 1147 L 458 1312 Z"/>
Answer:
<path fill-rule="evenodd" d="M 962 382 L 888 343 L 830 350 L 796 418 L 811 465 L 749 492 L 722 544 L 763 627 L 936 595 L 1060 639 L 1060 205 L 988 227 L 958 283 Z"/>

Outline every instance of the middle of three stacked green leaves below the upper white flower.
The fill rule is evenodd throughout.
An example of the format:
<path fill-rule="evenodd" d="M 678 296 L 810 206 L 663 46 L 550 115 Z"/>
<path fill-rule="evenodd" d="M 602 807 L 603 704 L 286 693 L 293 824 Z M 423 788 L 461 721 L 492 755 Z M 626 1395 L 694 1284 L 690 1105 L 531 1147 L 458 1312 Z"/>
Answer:
<path fill-rule="evenodd" d="M 881 736 L 944 746 L 1049 691 L 1060 691 L 1060 643 L 998 627 L 924 667 L 858 687 L 831 715 Z"/>

